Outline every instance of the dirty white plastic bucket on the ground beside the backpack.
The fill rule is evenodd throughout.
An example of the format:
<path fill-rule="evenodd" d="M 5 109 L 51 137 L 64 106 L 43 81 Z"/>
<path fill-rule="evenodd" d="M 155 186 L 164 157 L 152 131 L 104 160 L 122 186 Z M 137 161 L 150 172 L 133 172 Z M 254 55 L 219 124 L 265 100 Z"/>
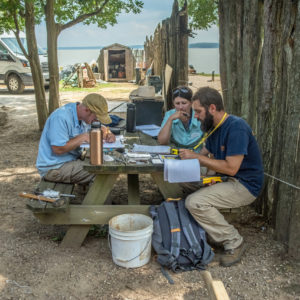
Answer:
<path fill-rule="evenodd" d="M 153 221 L 142 214 L 124 214 L 109 220 L 109 237 L 115 264 L 137 268 L 151 256 Z"/>

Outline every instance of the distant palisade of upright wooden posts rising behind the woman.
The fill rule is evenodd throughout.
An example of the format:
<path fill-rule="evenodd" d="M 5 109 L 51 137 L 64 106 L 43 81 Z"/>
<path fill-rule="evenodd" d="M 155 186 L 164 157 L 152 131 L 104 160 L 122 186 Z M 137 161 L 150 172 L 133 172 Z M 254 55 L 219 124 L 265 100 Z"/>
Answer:
<path fill-rule="evenodd" d="M 144 43 L 147 67 L 152 64 L 153 75 L 159 75 L 166 82 L 165 68 L 172 68 L 169 90 L 178 85 L 188 84 L 188 14 L 187 5 L 179 10 L 177 0 L 174 1 L 170 18 L 162 21 L 155 29 L 153 37 L 146 37 Z M 172 108 L 171 93 L 164 91 L 165 109 Z"/>

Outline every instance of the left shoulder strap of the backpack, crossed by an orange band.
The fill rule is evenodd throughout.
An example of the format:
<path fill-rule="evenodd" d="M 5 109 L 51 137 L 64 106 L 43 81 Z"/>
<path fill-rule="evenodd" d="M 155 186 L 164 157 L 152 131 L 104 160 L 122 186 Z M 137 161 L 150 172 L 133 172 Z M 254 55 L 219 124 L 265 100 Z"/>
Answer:
<path fill-rule="evenodd" d="M 177 215 L 177 211 L 175 208 L 174 202 L 163 202 L 163 206 L 166 210 L 170 231 L 171 231 L 171 249 L 170 252 L 174 257 L 178 257 L 180 253 L 180 223 Z"/>

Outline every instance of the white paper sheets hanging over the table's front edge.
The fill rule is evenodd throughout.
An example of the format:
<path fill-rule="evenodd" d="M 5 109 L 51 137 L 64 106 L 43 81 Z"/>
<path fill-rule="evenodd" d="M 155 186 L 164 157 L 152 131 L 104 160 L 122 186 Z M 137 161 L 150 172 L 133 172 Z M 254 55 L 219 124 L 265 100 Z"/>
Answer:
<path fill-rule="evenodd" d="M 164 180 L 175 182 L 200 181 L 200 163 L 198 159 L 165 159 Z"/>

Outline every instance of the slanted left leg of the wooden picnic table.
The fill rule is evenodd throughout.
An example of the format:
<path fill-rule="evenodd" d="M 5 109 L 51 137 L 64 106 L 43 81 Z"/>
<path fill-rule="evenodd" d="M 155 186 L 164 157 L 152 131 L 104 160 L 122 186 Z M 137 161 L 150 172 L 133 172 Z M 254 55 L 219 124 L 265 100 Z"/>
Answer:
<path fill-rule="evenodd" d="M 118 174 L 96 176 L 94 183 L 86 194 L 82 204 L 104 204 L 110 191 L 112 190 Z M 83 243 L 90 229 L 89 225 L 72 225 L 68 229 L 60 246 L 64 248 L 79 248 Z"/>

